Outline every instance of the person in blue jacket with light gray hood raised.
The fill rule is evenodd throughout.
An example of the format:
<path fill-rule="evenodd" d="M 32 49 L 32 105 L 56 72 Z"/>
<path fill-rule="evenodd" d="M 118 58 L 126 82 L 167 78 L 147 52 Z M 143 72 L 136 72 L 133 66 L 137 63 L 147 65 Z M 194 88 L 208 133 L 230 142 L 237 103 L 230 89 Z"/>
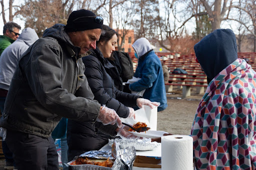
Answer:
<path fill-rule="evenodd" d="M 145 90 L 143 98 L 151 102 L 159 102 L 160 106 L 158 106 L 157 111 L 163 111 L 167 107 L 167 99 L 160 59 L 146 38 L 137 39 L 132 47 L 138 58 L 134 77 L 141 79 L 130 84 L 129 89 L 135 92 Z"/>

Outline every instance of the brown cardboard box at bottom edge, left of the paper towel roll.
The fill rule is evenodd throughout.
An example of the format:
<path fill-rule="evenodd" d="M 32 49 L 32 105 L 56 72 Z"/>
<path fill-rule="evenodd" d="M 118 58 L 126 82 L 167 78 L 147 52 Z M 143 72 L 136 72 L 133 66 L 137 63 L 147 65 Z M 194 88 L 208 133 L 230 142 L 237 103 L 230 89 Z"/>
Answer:
<path fill-rule="evenodd" d="M 154 157 L 136 156 L 132 170 L 161 170 L 161 160 Z"/>

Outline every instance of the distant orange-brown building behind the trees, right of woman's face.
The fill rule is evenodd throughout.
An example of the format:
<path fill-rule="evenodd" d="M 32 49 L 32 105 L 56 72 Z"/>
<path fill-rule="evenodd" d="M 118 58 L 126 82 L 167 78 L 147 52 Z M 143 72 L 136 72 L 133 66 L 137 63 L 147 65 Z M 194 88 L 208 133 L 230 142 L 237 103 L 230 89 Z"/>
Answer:
<path fill-rule="evenodd" d="M 133 48 L 131 46 L 132 43 L 134 42 L 134 30 L 128 29 L 126 31 L 127 31 L 127 33 L 124 36 L 124 38 L 119 40 L 119 44 L 121 44 L 121 41 L 122 41 L 122 45 L 120 47 L 120 51 L 123 51 L 123 52 L 134 52 L 134 50 L 133 50 Z M 121 29 L 118 31 L 118 34 L 122 35 L 122 30 Z M 121 38 L 121 36 L 119 36 L 119 37 Z M 115 45 L 115 50 L 118 50 L 117 48 L 118 48 L 118 46 L 116 44 Z"/>

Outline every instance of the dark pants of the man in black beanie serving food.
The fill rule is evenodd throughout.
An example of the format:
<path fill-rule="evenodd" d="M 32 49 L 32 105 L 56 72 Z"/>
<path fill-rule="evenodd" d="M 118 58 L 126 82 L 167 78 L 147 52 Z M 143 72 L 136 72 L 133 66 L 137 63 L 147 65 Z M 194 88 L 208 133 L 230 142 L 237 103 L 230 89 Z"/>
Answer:
<path fill-rule="evenodd" d="M 8 131 L 5 139 L 18 170 L 59 170 L 58 154 L 51 137 Z"/>

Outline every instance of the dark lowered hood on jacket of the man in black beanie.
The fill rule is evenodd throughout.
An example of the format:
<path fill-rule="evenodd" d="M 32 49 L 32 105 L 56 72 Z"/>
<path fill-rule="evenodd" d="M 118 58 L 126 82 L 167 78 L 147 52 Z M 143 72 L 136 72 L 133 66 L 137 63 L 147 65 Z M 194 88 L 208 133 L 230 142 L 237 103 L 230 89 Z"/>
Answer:
<path fill-rule="evenodd" d="M 63 24 L 57 23 L 57 24 L 53 25 L 52 27 L 45 29 L 42 36 L 43 37 L 46 37 L 46 36 L 52 37 L 52 38 L 57 39 L 58 41 L 67 43 L 68 46 L 70 46 L 72 48 L 72 50 L 75 52 L 75 54 L 78 55 L 81 48 L 73 45 L 69 36 L 67 35 L 66 31 L 64 30 L 64 26 L 65 25 L 63 25 Z M 85 55 L 87 55 L 87 54 L 85 54 Z"/>

